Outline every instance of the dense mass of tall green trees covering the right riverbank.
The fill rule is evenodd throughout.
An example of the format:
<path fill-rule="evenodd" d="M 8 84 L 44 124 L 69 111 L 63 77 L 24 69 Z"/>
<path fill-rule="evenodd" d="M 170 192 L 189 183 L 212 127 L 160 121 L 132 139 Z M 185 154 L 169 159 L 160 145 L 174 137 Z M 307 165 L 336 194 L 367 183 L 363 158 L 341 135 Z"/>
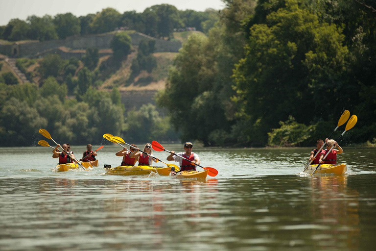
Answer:
<path fill-rule="evenodd" d="M 376 138 L 373 1 L 225 3 L 208 37 L 183 45 L 159 93 L 182 137 L 205 145 L 312 145 L 348 109 L 359 118 L 348 142 Z"/>

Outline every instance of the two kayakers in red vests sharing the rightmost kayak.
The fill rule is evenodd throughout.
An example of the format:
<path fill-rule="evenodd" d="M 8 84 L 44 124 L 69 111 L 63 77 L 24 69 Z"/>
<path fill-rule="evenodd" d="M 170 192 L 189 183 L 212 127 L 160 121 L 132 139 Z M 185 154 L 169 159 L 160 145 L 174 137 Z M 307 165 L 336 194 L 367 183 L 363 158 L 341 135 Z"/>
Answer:
<path fill-rule="evenodd" d="M 319 139 L 316 142 L 316 149 L 312 149 L 310 156 L 309 156 L 309 162 L 312 161 L 312 164 L 314 164 L 314 165 L 315 164 L 318 165 L 318 164 L 336 164 L 337 163 L 337 154 L 340 154 L 340 153 L 343 152 L 342 148 L 333 139 L 325 139 L 325 143 L 327 145 L 327 149 L 323 149 L 323 150 L 320 151 L 320 149 L 324 145 L 324 140 Z M 330 149 L 332 148 L 333 145 L 336 146 L 338 148 L 338 150 L 332 149 L 330 151 Z M 319 154 L 317 154 L 318 151 L 320 151 Z M 328 156 L 324 159 L 324 156 L 327 155 L 328 152 L 329 152 Z"/>

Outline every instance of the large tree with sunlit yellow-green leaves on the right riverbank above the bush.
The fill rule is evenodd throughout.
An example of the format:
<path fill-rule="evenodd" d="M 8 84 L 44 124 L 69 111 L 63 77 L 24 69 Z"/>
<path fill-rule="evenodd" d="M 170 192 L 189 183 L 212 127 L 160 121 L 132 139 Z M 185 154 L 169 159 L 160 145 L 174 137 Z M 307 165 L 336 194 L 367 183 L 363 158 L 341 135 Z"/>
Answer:
<path fill-rule="evenodd" d="M 333 97 L 348 67 L 341 29 L 320 23 L 295 1 L 269 14 L 266 22 L 251 27 L 246 57 L 234 71 L 233 100 L 245 120 L 242 131 L 248 142 L 261 146 L 267 132 L 289 115 L 308 124 L 312 118 L 306 112 L 312 102 L 317 103 L 313 106 L 316 114 L 325 112 L 321 100 L 333 100 L 332 111 L 342 110 Z"/>

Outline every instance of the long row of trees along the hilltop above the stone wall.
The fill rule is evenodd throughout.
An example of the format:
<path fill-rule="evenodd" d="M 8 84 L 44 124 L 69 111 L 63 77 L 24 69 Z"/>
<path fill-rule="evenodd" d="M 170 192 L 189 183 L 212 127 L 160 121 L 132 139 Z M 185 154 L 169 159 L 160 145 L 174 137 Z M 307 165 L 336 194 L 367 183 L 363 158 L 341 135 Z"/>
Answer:
<path fill-rule="evenodd" d="M 99 34 L 117 29 L 133 29 L 157 38 L 172 38 L 175 29 L 194 27 L 207 32 L 218 21 L 216 11 L 180 11 L 170 4 L 153 5 L 142 13 L 105 8 L 95 14 L 76 17 L 72 13 L 12 19 L 0 26 L 0 39 L 9 41 L 65 39 L 75 35 Z"/>

